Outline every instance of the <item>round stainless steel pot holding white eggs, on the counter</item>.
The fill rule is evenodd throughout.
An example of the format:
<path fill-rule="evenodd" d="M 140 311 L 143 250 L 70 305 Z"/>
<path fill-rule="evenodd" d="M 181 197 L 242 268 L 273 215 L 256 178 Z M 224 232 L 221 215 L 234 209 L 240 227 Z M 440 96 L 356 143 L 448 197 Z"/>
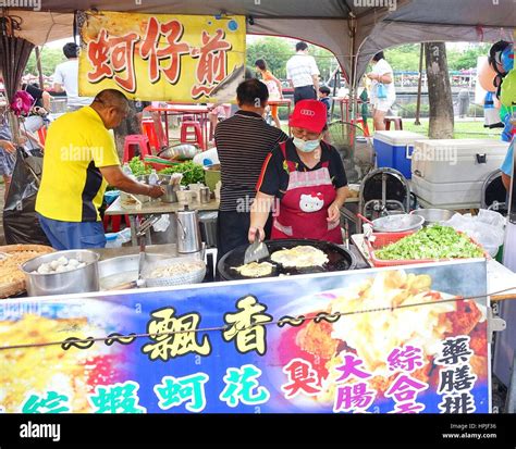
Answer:
<path fill-rule="evenodd" d="M 77 259 L 86 266 L 62 273 L 33 273 L 42 263 L 58 260 L 61 257 Z M 71 295 L 99 290 L 98 260 L 100 255 L 87 249 L 58 251 L 38 255 L 22 265 L 28 296 Z"/>

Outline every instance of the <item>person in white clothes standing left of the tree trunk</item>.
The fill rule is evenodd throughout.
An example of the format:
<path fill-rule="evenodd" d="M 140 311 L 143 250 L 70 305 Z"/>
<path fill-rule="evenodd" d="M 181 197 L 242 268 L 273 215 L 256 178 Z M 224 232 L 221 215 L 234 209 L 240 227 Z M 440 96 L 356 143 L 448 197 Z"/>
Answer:
<path fill-rule="evenodd" d="M 383 51 L 374 54 L 371 60 L 372 71 L 366 76 L 372 80 L 371 84 L 371 107 L 372 121 L 376 130 L 384 130 L 383 122 L 386 112 L 396 101 L 396 90 L 394 88 L 394 73 L 389 62 L 383 57 Z M 383 87 L 380 87 L 383 85 Z"/>

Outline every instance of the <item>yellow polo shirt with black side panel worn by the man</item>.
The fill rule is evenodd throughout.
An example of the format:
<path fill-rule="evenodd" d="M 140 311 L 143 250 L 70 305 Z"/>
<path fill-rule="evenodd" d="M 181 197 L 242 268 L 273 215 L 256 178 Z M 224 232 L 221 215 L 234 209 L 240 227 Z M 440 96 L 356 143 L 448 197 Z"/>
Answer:
<path fill-rule="evenodd" d="M 99 114 L 85 107 L 49 127 L 36 211 L 62 222 L 96 222 L 107 183 L 99 167 L 120 165 L 114 140 Z"/>

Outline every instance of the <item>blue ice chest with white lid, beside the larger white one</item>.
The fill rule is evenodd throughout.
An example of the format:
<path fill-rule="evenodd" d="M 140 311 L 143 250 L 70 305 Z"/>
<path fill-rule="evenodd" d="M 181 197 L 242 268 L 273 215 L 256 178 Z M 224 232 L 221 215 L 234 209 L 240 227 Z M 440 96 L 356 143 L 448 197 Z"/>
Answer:
<path fill-rule="evenodd" d="M 417 140 L 428 139 L 409 130 L 379 130 L 372 145 L 377 154 L 377 167 L 396 169 L 407 179 L 411 177 L 410 159 Z"/>

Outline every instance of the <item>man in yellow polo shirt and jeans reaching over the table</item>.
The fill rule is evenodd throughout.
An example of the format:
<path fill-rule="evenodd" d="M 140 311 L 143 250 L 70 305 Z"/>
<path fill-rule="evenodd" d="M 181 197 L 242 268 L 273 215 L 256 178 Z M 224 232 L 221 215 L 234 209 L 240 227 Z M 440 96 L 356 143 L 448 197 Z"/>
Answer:
<path fill-rule="evenodd" d="M 163 195 L 160 187 L 137 183 L 120 167 L 109 129 L 119 126 L 127 111 L 125 96 L 106 89 L 89 107 L 64 114 L 50 126 L 36 211 L 53 248 L 106 246 L 98 209 L 108 184 L 128 194 Z"/>

